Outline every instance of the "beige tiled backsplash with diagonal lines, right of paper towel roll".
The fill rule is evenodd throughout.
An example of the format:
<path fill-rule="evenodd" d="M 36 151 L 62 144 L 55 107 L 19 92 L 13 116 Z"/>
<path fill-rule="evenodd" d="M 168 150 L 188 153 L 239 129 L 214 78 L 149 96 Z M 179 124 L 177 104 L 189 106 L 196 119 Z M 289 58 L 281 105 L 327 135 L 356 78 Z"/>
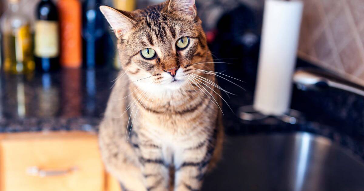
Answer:
<path fill-rule="evenodd" d="M 304 2 L 298 55 L 364 82 L 364 1 Z"/>

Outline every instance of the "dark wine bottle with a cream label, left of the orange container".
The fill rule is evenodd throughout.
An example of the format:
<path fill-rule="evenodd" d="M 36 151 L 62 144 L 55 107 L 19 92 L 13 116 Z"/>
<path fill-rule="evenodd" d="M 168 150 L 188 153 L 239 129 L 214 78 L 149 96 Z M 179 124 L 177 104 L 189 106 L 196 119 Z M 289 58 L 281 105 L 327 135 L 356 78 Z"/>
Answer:
<path fill-rule="evenodd" d="M 58 11 L 51 0 L 41 0 L 36 9 L 34 55 L 38 71 L 59 68 Z"/>

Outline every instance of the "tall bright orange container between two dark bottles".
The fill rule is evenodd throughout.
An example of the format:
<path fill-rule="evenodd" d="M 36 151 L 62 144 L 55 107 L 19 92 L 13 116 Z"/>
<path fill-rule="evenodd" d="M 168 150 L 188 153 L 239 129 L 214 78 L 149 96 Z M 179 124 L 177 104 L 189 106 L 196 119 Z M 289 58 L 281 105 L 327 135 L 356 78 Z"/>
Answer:
<path fill-rule="evenodd" d="M 63 67 L 82 65 L 81 4 L 79 0 L 59 0 L 60 63 Z"/>

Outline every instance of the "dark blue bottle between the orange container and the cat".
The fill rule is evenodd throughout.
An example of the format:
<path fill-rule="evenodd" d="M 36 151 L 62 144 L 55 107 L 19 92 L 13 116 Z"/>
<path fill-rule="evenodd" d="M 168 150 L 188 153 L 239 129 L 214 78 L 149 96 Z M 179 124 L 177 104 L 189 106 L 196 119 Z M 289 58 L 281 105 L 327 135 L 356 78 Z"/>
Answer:
<path fill-rule="evenodd" d="M 82 36 L 84 45 L 84 60 L 87 68 L 95 67 L 96 63 L 104 62 L 105 34 L 104 16 L 99 10 L 102 0 L 86 0 L 82 9 Z"/>

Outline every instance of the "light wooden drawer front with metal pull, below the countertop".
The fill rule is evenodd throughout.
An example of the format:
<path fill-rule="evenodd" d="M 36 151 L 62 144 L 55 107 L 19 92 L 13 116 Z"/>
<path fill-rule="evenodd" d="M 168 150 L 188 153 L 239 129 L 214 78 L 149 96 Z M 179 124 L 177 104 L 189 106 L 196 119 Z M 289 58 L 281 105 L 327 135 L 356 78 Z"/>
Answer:
<path fill-rule="evenodd" d="M 105 174 L 95 135 L 9 135 L 1 141 L 0 155 L 1 191 L 104 190 Z M 36 172 L 36 167 L 44 177 L 42 173 L 31 175 L 29 170 Z"/>

